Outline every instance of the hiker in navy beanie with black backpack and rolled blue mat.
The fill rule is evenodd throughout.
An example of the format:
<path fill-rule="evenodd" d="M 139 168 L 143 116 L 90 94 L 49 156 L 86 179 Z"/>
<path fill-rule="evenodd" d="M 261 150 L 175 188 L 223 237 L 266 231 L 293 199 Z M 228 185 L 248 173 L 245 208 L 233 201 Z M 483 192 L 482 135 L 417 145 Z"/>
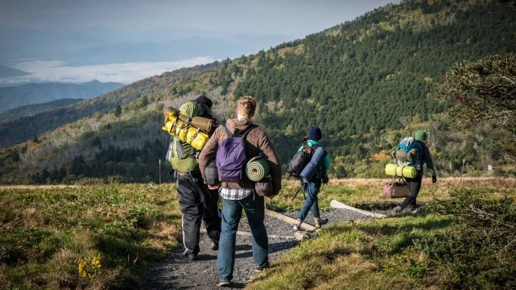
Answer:
<path fill-rule="evenodd" d="M 330 169 L 330 156 L 318 142 L 321 137 L 322 133 L 319 127 L 310 127 L 308 136 L 303 138 L 298 153 L 287 166 L 287 172 L 291 176 L 301 179 L 301 188 L 305 198 L 303 207 L 297 215 L 297 222 L 294 224 L 295 231 L 301 230 L 301 224 L 310 210 L 312 210 L 315 227 L 320 228 L 323 224 L 328 223 L 327 218 L 320 217 L 317 198 L 321 184 L 328 183 L 327 170 Z"/>

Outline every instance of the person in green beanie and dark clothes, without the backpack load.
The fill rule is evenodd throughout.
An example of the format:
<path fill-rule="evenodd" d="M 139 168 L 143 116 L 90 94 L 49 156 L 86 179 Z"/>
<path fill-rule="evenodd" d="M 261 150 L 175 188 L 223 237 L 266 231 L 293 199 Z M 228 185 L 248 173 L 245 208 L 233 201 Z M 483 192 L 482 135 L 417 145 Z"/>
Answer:
<path fill-rule="evenodd" d="M 410 188 L 410 195 L 407 198 L 405 198 L 401 205 L 394 207 L 394 213 L 401 212 L 408 205 L 412 207 L 412 213 L 416 214 L 420 211 L 420 208 L 417 207 L 416 198 L 421 189 L 421 182 L 423 179 L 423 165 L 425 163 L 426 167 L 428 168 L 428 171 L 430 171 L 430 173 L 432 174 L 432 183 L 437 182 L 436 170 L 433 169 L 432 157 L 430 156 L 430 151 L 428 150 L 428 147 L 425 143 L 426 138 L 427 136 L 425 131 L 420 130 L 414 134 L 415 141 L 421 142 L 421 149 L 415 150 L 414 155 L 415 162 L 413 165 L 417 169 L 417 175 L 415 178 L 405 178 Z"/>

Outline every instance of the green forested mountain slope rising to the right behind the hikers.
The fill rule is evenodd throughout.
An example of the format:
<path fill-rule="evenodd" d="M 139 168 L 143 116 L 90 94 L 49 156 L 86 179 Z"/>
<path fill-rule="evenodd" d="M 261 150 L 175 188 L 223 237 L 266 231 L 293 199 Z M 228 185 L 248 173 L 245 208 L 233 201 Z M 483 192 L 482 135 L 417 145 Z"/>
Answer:
<path fill-rule="evenodd" d="M 239 96 L 256 96 L 256 122 L 275 142 L 283 163 L 308 127 L 318 124 L 336 177 L 382 176 L 389 159 L 384 153 L 420 128 L 431 136 L 441 174 L 453 174 L 458 160 L 466 158 L 470 172 L 488 163 L 502 167 L 489 137 L 503 132 L 490 127 L 451 132 L 442 114 L 449 104 L 427 94 L 459 61 L 516 51 L 516 12 L 508 7 L 494 1 L 407 1 L 375 9 L 304 39 L 224 62 L 217 71 L 166 91 L 141 94 L 118 115 L 102 112 L 4 150 L 2 174 L 12 173 L 2 182 L 60 182 L 65 155 L 75 178 L 123 175 L 128 181 L 156 182 L 157 159 L 163 159 L 168 140 L 160 129 L 160 110 L 203 92 L 222 117 L 230 116 Z M 30 180 L 16 178 L 22 171 L 38 173 Z"/>

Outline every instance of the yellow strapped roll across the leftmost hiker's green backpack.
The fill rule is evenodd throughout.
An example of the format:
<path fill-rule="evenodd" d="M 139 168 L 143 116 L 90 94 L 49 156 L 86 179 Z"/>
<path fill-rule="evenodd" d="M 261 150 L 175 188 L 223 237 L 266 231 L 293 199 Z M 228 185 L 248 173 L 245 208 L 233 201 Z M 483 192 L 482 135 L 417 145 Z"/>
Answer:
<path fill-rule="evenodd" d="M 202 150 L 206 142 L 208 142 L 208 134 L 202 132 L 192 124 L 183 122 L 179 116 L 169 113 L 165 118 L 165 125 L 163 130 L 168 134 L 178 137 L 181 141 L 190 144 L 191 147 Z"/>

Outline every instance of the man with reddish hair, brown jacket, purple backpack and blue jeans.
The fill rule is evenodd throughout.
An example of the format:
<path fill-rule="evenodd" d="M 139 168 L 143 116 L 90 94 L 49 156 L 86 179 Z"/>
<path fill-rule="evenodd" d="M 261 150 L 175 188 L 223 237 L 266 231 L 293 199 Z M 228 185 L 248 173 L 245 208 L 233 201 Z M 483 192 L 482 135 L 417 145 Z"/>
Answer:
<path fill-rule="evenodd" d="M 228 120 L 225 126 L 219 126 L 199 156 L 199 165 L 203 174 L 204 168 L 217 158 L 219 179 L 222 182 L 220 186 L 222 232 L 217 255 L 219 270 L 217 286 L 229 286 L 233 279 L 236 231 L 242 210 L 246 212 L 251 229 L 256 271 L 269 266 L 269 243 L 264 224 L 264 198 L 259 195 L 260 190 L 255 189 L 254 182 L 247 179 L 245 170 L 242 170 L 245 168 L 245 159 L 249 160 L 261 154 L 269 163 L 272 189 L 268 197 L 272 198 L 281 189 L 281 164 L 270 138 L 251 121 L 255 109 L 256 99 L 252 96 L 240 98 L 236 108 L 237 119 Z M 231 160 L 235 160 L 232 166 L 221 167 L 222 164 L 231 165 Z"/>

